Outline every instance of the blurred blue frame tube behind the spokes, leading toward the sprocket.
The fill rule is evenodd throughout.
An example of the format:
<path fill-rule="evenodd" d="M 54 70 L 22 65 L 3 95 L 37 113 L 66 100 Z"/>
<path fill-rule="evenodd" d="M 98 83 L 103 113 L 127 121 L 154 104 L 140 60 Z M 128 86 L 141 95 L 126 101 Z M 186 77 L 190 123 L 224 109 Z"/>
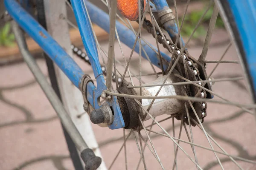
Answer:
<path fill-rule="evenodd" d="M 98 7 L 94 6 L 92 3 L 89 1 L 86 1 L 86 6 L 88 13 L 90 15 L 90 19 L 92 20 L 93 23 L 96 23 L 99 27 L 103 28 L 105 31 L 109 32 L 109 15 L 106 14 L 104 11 L 99 9 Z M 116 29 L 119 34 L 120 40 L 127 45 L 130 48 L 133 48 L 134 41 L 136 36 L 134 35 L 133 31 L 131 31 L 129 28 L 125 27 L 118 21 L 116 21 Z M 148 54 L 149 59 L 151 62 L 156 65 L 157 67 L 160 68 L 160 61 L 157 57 L 157 53 L 154 52 L 143 40 L 141 40 L 141 43 L 143 45 L 143 48 L 145 49 L 145 52 Z M 139 42 L 137 41 L 137 44 L 135 46 L 135 51 L 139 53 Z M 155 47 L 154 47 L 155 48 Z M 157 48 L 155 48 L 157 51 Z M 162 53 L 161 55 L 163 58 L 166 59 L 167 62 L 170 62 L 171 58 Z M 145 53 L 142 51 L 142 57 L 147 59 L 145 56 Z M 164 64 L 164 68 L 167 68 L 168 65 L 166 63 Z"/>

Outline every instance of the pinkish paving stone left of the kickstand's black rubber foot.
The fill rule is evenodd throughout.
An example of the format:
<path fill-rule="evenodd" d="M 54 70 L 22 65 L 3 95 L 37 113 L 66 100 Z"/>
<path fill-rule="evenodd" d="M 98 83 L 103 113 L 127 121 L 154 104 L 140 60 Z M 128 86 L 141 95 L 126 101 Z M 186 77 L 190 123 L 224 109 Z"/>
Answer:
<path fill-rule="evenodd" d="M 68 156 L 67 144 L 58 119 L 0 129 L 0 169 L 10 170 L 42 156 Z"/>

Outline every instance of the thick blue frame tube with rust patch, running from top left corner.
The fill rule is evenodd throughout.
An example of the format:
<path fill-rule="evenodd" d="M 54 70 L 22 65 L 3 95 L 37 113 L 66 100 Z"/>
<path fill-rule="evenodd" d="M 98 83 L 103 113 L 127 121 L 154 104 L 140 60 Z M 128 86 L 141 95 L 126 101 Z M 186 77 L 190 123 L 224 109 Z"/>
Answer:
<path fill-rule="evenodd" d="M 79 88 L 79 83 L 84 75 L 81 68 L 64 51 L 63 48 L 52 39 L 48 32 L 27 13 L 15 0 L 4 0 L 6 10 L 13 19 L 35 40 L 38 45 L 47 53 L 67 77 Z"/>

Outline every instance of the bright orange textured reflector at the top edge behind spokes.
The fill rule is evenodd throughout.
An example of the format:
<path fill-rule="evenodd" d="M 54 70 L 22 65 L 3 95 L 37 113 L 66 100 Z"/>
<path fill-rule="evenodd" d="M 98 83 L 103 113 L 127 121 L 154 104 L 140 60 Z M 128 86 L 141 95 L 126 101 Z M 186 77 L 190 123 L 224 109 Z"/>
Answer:
<path fill-rule="evenodd" d="M 141 11 L 144 12 L 146 0 L 140 0 Z M 138 0 L 116 0 L 117 8 L 121 14 L 128 20 L 135 21 L 139 17 Z M 141 16 L 143 13 L 141 13 Z"/>

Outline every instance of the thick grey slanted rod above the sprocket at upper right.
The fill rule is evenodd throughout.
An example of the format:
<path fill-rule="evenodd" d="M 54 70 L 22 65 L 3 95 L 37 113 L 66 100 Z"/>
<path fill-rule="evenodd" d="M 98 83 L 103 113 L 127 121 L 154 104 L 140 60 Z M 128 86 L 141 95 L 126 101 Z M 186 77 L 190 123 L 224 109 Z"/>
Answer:
<path fill-rule="evenodd" d="M 206 34 L 206 37 L 205 37 L 204 47 L 203 47 L 201 55 L 198 58 L 198 61 L 203 63 L 203 64 L 204 64 L 204 60 L 205 60 L 207 52 L 208 52 L 209 44 L 210 44 L 211 39 L 212 39 L 212 32 L 213 32 L 213 29 L 215 27 L 215 23 L 216 23 L 216 20 L 217 20 L 217 17 L 218 17 L 218 12 L 219 12 L 218 5 L 215 4 L 214 7 L 213 7 L 212 17 L 211 17 L 211 20 L 210 20 L 210 23 L 209 23 L 209 28 L 208 28 L 208 31 L 207 31 L 207 34 Z"/>

